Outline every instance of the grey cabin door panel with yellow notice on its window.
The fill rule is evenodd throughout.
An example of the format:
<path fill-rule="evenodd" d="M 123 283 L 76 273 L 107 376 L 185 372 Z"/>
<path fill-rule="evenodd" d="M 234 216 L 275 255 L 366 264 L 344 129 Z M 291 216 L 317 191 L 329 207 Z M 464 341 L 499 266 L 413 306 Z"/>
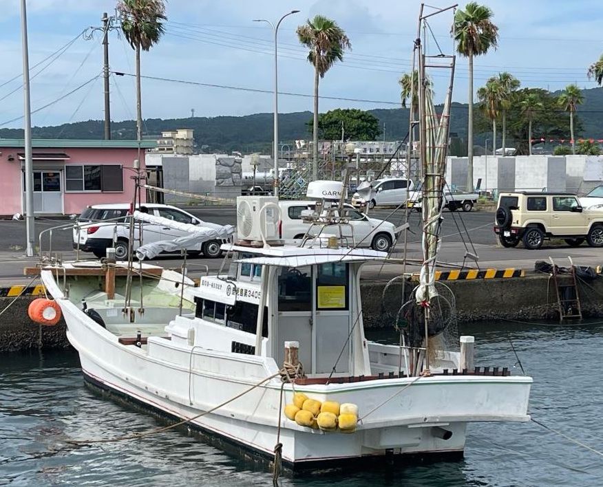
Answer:
<path fill-rule="evenodd" d="M 350 374 L 350 272 L 343 262 L 316 266 L 314 299 L 315 374 Z M 348 338 L 349 337 L 349 338 Z"/>

